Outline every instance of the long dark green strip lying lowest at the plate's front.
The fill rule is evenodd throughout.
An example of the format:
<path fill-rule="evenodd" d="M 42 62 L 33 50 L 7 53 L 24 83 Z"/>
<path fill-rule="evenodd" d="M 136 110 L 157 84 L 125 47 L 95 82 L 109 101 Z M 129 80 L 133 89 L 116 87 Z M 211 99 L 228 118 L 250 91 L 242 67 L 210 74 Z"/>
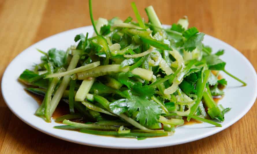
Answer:
<path fill-rule="evenodd" d="M 115 131 L 97 131 L 97 130 L 90 130 L 90 129 L 80 129 L 80 132 L 87 133 L 87 134 L 95 134 L 95 135 L 105 135 L 105 136 L 137 136 L 137 137 L 157 137 L 157 136 L 168 136 L 168 132 L 163 133 L 137 133 L 137 132 L 130 132 L 126 134 L 119 134 Z"/>

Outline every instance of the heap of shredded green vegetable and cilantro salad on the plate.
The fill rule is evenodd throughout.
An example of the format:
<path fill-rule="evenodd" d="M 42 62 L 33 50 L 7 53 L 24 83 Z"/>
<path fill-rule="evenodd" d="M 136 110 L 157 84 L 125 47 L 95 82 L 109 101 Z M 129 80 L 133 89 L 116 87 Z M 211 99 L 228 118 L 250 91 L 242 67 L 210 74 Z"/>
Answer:
<path fill-rule="evenodd" d="M 189 28 L 186 16 L 163 28 L 152 6 L 145 8 L 148 22 L 131 6 L 137 22 L 94 21 L 90 0 L 92 37 L 76 35 L 66 51 L 37 49 L 42 63 L 19 77 L 27 91 L 44 96 L 35 114 L 51 122 L 66 103 L 70 113 L 55 119 L 64 124 L 55 128 L 138 140 L 172 135 L 192 119 L 221 127 L 230 108 L 213 99 L 227 85 L 219 72 L 246 85 L 225 69 L 224 50 L 202 44 L 204 33 Z"/>

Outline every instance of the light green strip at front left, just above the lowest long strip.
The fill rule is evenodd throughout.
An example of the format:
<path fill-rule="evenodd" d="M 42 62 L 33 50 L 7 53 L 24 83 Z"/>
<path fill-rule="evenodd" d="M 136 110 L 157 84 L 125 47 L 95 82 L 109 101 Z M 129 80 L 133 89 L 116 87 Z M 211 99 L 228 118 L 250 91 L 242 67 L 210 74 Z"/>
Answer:
<path fill-rule="evenodd" d="M 64 120 L 62 123 L 73 127 L 86 128 L 86 129 L 100 129 L 100 130 L 118 130 L 119 129 L 119 127 L 116 127 L 116 126 L 76 123 L 69 120 Z"/>

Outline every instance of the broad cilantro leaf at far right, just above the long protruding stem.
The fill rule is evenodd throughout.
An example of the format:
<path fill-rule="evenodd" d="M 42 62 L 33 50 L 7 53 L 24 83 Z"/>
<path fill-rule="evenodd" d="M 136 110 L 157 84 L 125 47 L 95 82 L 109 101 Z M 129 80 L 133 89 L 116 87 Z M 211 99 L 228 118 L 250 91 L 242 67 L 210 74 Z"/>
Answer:
<path fill-rule="evenodd" d="M 217 55 L 206 56 L 205 60 L 210 70 L 224 70 L 226 65 Z"/>

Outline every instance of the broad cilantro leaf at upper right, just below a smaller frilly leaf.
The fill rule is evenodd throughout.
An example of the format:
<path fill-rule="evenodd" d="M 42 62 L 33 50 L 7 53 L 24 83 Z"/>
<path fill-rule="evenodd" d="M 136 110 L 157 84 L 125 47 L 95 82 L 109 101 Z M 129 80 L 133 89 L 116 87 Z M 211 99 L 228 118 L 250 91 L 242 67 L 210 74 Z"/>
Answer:
<path fill-rule="evenodd" d="M 183 47 L 186 51 L 193 51 L 196 47 L 201 48 L 202 47 L 202 40 L 204 39 L 204 33 L 198 33 L 190 37 Z"/>

